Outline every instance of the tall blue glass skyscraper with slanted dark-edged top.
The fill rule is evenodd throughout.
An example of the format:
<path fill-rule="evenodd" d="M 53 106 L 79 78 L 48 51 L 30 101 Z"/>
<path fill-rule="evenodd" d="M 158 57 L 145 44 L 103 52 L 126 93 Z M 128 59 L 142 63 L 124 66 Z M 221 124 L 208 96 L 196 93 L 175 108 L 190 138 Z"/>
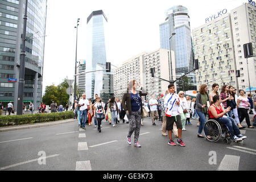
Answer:
<path fill-rule="evenodd" d="M 86 71 L 93 71 L 96 70 L 96 68 L 105 69 L 106 48 L 104 30 L 107 22 L 108 19 L 102 10 L 93 11 L 87 18 Z M 113 72 L 109 73 L 103 71 L 103 73 L 87 73 L 86 97 L 93 98 L 94 94 L 97 93 L 100 95 L 100 97 L 101 95 L 104 96 L 104 100 L 106 100 L 113 96 L 113 88 L 105 85 L 107 82 L 113 82 Z M 98 85 L 99 83 L 101 83 L 102 86 Z"/>

